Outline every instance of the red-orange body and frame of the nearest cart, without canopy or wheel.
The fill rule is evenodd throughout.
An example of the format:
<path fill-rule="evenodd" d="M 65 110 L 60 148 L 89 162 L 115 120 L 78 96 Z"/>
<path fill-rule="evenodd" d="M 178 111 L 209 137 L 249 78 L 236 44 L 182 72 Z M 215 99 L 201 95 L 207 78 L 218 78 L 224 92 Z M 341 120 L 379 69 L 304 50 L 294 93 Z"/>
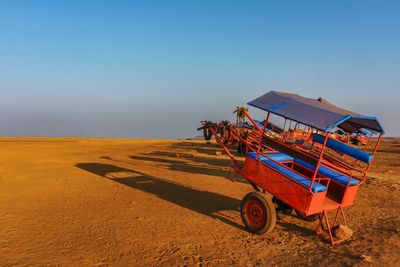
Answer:
<path fill-rule="evenodd" d="M 347 225 L 343 207 L 353 205 L 358 186 L 364 182 L 371 166 L 371 160 L 368 162 L 364 161 L 366 163 L 364 170 L 358 169 L 356 167 L 357 165 L 354 166 L 354 161 L 347 162 L 346 159 L 343 160 L 343 154 L 339 153 L 340 151 L 337 153 L 339 156 L 341 156 L 341 158 L 336 158 L 331 155 L 332 153 L 336 152 L 334 149 L 332 150 L 331 147 L 327 147 L 327 141 L 329 140 L 330 135 L 332 135 L 330 132 L 324 133 L 324 139 L 322 143 L 320 142 L 319 144 L 318 142 L 312 140 L 311 147 L 306 147 L 304 143 L 309 142 L 311 134 L 314 132 L 318 133 L 318 131 L 312 128 L 309 128 L 308 131 L 296 131 L 296 127 L 293 131 L 290 131 L 289 125 L 288 136 L 285 135 L 285 126 L 283 127 L 280 135 L 271 135 L 270 132 L 266 130 L 270 112 L 267 114 L 267 118 L 264 121 L 264 129 L 262 129 L 259 124 L 252 119 L 246 110 L 242 109 L 241 111 L 244 113 L 244 116 L 246 116 L 253 124 L 254 129 L 246 132 L 245 135 L 242 135 L 242 130 L 238 128 L 237 125 L 231 125 L 229 128 L 230 138 L 235 142 L 239 142 L 239 144 L 244 144 L 246 146 L 246 153 L 249 151 L 256 152 L 256 159 L 246 156 L 245 163 L 243 165 L 238 163 L 231 151 L 225 145 L 224 141 L 217 135 L 214 129 L 215 125 L 207 121 L 202 121 L 203 126 L 207 127 L 213 133 L 216 141 L 231 158 L 231 167 L 233 170 L 246 178 L 256 191 L 260 191 L 260 188 L 263 189 L 264 192 L 267 191 L 276 199 L 294 208 L 297 213 L 305 216 L 319 214 L 319 224 L 316 233 L 323 239 L 329 241 L 331 244 L 336 244 L 345 240 L 345 238 L 340 239 L 334 237 L 331 229 L 338 224 L 340 216 L 344 225 Z M 239 114 L 239 109 L 237 109 L 235 112 Z M 240 118 L 243 119 L 244 116 L 242 114 Z M 285 140 L 289 137 L 295 139 L 294 143 L 289 142 L 291 140 L 288 142 Z M 372 134 L 368 139 L 368 143 L 366 144 L 364 151 L 367 151 L 371 138 Z M 379 137 L 375 143 L 375 147 L 373 148 L 372 156 L 375 155 L 381 138 L 382 132 L 379 133 Z M 324 154 L 325 150 L 330 153 Z M 264 154 L 266 151 L 280 151 L 283 154 L 286 153 L 294 159 L 305 159 L 306 162 L 312 164 L 313 166 L 293 159 L 284 159 L 284 162 L 278 162 Z M 267 158 L 274 164 L 270 164 L 269 161 L 264 161 L 265 163 L 262 162 L 258 157 L 259 155 Z M 280 166 L 277 167 L 276 164 L 279 164 Z M 275 168 L 272 166 L 275 166 Z M 346 182 L 344 182 L 343 179 L 338 179 L 338 177 L 332 176 L 332 173 L 327 173 L 326 171 L 319 172 L 320 166 L 328 167 L 335 172 L 343 174 L 344 176 L 357 179 L 359 183 L 352 186 L 349 184 L 344 184 Z M 297 175 L 292 175 L 291 172 L 282 168 L 287 168 Z M 329 175 L 332 179 L 323 176 L 323 174 Z M 288 175 L 292 175 L 293 178 Z M 310 180 L 310 183 L 300 183 L 298 181 L 300 180 L 298 176 Z M 349 178 L 347 183 L 350 182 L 353 183 L 354 181 L 350 180 Z M 319 186 L 315 183 L 324 185 L 326 187 L 326 191 L 313 192 L 312 188 L 316 188 L 313 187 L 313 185 Z M 332 225 L 329 223 L 327 215 L 328 211 L 335 211 L 336 213 Z"/>

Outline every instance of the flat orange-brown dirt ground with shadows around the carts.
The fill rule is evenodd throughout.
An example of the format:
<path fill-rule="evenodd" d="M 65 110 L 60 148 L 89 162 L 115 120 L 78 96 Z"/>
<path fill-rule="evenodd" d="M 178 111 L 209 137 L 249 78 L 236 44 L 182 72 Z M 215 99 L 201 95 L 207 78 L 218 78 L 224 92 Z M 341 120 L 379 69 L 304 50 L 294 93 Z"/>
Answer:
<path fill-rule="evenodd" d="M 205 141 L 0 139 L 0 265 L 399 266 L 400 140 L 386 139 L 336 246 L 281 216 L 253 235 L 252 191 Z M 365 256 L 367 257 L 365 257 Z M 368 258 L 369 257 L 369 258 Z"/>

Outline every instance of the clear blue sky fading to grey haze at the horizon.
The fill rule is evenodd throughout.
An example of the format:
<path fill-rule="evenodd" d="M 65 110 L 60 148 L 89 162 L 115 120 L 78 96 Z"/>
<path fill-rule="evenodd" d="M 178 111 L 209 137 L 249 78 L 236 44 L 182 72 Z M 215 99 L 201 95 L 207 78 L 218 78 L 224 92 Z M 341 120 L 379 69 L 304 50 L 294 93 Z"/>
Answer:
<path fill-rule="evenodd" d="M 0 0 L 0 136 L 193 137 L 271 90 L 400 136 L 399 14 L 399 1 Z"/>

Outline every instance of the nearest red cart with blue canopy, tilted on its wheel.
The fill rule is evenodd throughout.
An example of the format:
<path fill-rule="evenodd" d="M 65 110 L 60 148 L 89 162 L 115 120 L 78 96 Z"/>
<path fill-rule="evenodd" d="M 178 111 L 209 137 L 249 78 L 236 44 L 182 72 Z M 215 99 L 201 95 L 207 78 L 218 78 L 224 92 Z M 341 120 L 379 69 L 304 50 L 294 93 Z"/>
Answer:
<path fill-rule="evenodd" d="M 236 123 L 226 124 L 223 135 L 218 134 L 216 124 L 201 122 L 230 157 L 231 168 L 255 190 L 241 202 L 247 229 L 256 234 L 270 232 L 278 208 L 286 213 L 295 210 L 307 220 L 319 220 L 316 234 L 331 244 L 345 240 L 335 236 L 332 229 L 340 219 L 347 225 L 343 208 L 353 205 L 384 133 L 378 119 L 339 108 L 322 98 L 276 91 L 248 105 L 265 111 L 265 120 L 256 120 L 246 108 L 238 108 Z M 282 128 L 276 127 L 279 131 L 270 127 L 277 118 L 284 121 Z M 246 119 L 250 127 L 244 135 Z M 370 135 L 360 149 L 334 138 L 337 129 L 349 135 L 360 131 Z M 231 143 L 242 144 L 244 163 L 239 163 L 228 148 L 227 136 Z M 332 223 L 328 214 L 333 215 Z"/>

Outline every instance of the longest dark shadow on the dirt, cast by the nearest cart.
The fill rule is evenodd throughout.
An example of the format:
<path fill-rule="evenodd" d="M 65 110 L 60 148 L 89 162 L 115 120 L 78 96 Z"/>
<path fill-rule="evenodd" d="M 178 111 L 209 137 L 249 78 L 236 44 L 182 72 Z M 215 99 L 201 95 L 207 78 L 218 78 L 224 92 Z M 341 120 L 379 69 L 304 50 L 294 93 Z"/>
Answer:
<path fill-rule="evenodd" d="M 239 229 L 244 229 L 243 226 L 221 214 L 221 211 L 226 210 L 238 212 L 240 201 L 237 199 L 111 164 L 78 163 L 75 166 L 81 170 L 94 173 L 114 182 L 150 193 L 183 208 L 218 219 Z M 119 174 L 128 177 L 120 178 L 118 177 Z"/>

